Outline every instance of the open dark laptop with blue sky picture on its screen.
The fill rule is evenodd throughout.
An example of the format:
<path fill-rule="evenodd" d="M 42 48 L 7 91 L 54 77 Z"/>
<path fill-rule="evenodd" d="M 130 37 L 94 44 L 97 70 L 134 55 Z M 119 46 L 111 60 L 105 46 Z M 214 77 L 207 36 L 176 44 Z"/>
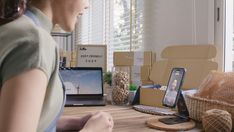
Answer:
<path fill-rule="evenodd" d="M 102 68 L 60 68 L 59 72 L 66 91 L 65 106 L 105 105 Z"/>

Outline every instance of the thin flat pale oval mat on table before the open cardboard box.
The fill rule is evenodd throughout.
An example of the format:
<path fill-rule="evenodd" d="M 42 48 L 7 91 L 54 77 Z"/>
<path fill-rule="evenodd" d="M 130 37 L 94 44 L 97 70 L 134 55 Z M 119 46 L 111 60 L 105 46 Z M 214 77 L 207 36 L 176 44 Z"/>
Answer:
<path fill-rule="evenodd" d="M 175 114 L 175 111 L 172 111 L 171 109 L 146 106 L 146 105 L 134 105 L 133 109 L 140 111 L 140 112 L 143 112 L 143 113 L 153 114 L 153 115 L 173 115 L 173 114 Z"/>

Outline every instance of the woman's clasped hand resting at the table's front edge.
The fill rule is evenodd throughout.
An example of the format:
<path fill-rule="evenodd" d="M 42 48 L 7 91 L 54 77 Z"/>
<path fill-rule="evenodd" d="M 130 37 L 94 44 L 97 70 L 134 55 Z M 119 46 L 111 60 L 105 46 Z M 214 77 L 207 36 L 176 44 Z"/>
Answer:
<path fill-rule="evenodd" d="M 112 116 L 106 112 L 95 113 L 80 132 L 111 132 L 114 126 Z"/>

